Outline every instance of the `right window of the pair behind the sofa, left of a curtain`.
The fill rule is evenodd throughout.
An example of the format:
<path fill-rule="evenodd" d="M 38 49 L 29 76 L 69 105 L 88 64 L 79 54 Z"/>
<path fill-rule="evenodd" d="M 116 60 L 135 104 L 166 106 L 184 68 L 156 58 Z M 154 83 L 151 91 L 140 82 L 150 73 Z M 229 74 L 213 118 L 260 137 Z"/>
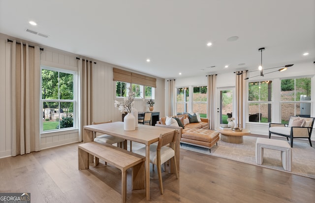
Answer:
<path fill-rule="evenodd" d="M 193 87 L 192 111 L 200 117 L 207 117 L 207 86 Z"/>

